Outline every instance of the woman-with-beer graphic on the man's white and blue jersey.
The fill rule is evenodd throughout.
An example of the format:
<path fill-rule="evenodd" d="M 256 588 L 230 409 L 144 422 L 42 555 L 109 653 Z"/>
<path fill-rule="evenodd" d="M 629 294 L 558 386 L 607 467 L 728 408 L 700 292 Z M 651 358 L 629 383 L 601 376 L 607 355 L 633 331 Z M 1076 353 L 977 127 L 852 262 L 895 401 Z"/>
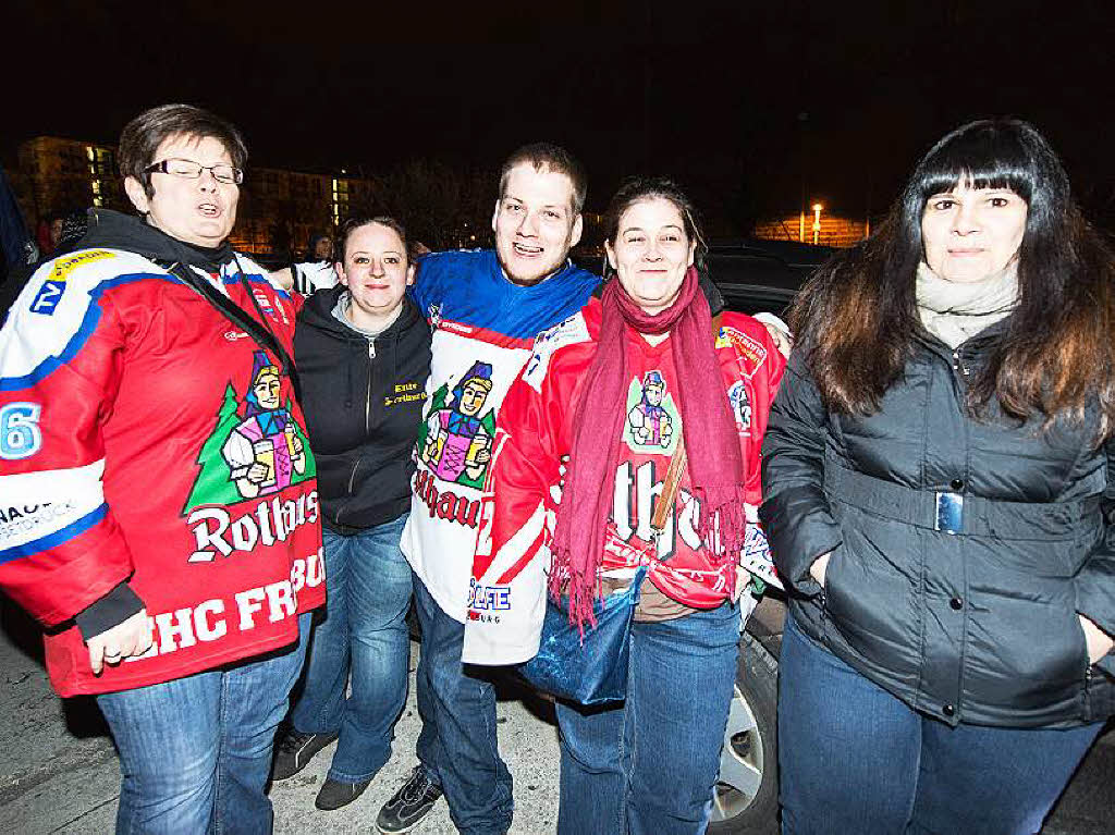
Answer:
<path fill-rule="evenodd" d="M 446 482 L 483 483 L 492 460 L 491 412 L 481 417 L 492 391 L 492 365 L 476 361 L 453 389 L 453 400 L 426 418 L 423 459 Z"/>

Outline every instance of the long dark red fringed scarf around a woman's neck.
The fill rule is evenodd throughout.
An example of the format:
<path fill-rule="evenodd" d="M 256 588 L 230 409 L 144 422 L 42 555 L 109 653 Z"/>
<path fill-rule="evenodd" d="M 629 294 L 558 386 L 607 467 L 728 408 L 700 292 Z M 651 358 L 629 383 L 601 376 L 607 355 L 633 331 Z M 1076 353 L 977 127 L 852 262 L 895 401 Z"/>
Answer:
<path fill-rule="evenodd" d="M 700 501 L 697 534 L 714 563 L 735 563 L 744 544 L 744 462 L 735 419 L 720 381 L 712 346 L 712 317 L 690 266 L 678 300 L 657 315 L 639 308 L 610 281 L 601 298 L 603 314 L 597 356 L 576 405 L 573 449 L 554 531 L 550 594 L 569 594 L 570 621 L 594 622 L 592 600 L 603 561 L 604 531 L 612 509 L 615 468 L 631 382 L 627 329 L 670 331 L 678 371 L 689 479 Z"/>

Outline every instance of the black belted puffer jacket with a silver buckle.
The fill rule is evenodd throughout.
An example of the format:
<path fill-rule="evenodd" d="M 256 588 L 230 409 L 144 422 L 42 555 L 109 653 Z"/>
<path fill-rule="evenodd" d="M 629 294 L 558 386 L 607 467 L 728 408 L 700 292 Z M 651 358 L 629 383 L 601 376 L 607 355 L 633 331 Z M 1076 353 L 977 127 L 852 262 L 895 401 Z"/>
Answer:
<path fill-rule="evenodd" d="M 1115 633 L 1115 441 L 1089 445 L 1095 419 L 966 416 L 1001 332 L 956 352 L 921 338 L 867 417 L 830 414 L 793 358 L 759 515 L 792 613 L 865 677 L 953 725 L 1068 727 L 1115 712 L 1115 658 L 1088 667 L 1077 619 Z M 808 569 L 830 551 L 822 591 Z"/>

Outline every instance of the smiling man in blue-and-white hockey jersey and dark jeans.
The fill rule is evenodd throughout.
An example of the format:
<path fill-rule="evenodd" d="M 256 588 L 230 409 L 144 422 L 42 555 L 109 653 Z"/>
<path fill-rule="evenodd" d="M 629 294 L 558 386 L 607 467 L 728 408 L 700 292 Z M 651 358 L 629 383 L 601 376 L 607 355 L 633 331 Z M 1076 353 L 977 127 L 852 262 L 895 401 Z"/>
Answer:
<path fill-rule="evenodd" d="M 462 642 L 500 406 L 535 334 L 580 310 L 599 283 L 569 260 L 581 239 L 584 195 L 583 169 L 569 152 L 527 145 L 501 172 L 495 249 L 430 254 L 417 265 L 413 295 L 434 342 L 403 552 L 421 624 L 423 730 L 418 766 L 379 813 L 381 833 L 409 832 L 443 792 L 463 835 L 511 828 L 495 690 L 462 664 Z"/>

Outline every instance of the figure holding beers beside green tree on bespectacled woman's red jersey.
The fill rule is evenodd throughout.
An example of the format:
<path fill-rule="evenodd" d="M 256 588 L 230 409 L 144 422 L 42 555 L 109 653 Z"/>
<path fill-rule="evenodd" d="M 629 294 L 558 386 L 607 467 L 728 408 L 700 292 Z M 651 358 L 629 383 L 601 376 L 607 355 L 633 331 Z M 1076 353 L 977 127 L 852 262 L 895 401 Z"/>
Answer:
<path fill-rule="evenodd" d="M 306 449 L 290 412 L 280 407 L 282 378 L 268 355 L 256 351 L 252 380 L 244 397 L 245 418 L 229 435 L 221 455 L 244 498 L 289 487 L 306 472 Z"/>

